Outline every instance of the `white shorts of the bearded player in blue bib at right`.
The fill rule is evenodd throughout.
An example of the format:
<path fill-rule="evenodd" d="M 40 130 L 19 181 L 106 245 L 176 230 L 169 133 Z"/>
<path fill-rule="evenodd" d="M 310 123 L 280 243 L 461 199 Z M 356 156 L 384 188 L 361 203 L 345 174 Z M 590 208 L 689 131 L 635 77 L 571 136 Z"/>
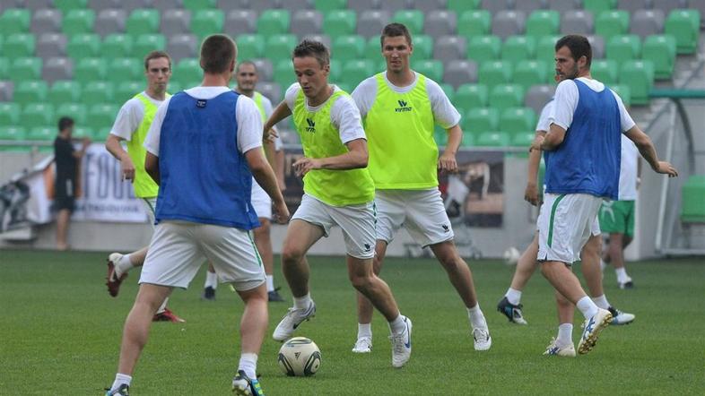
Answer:
<path fill-rule="evenodd" d="M 589 194 L 544 194 L 538 218 L 538 260 L 579 261 L 601 203 L 602 198 Z"/>

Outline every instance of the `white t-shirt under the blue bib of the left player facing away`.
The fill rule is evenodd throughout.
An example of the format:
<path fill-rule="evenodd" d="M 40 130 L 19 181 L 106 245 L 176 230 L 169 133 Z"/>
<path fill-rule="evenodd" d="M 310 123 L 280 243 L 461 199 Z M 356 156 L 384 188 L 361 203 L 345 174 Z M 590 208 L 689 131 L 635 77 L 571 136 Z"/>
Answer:
<path fill-rule="evenodd" d="M 196 99 L 213 99 L 223 92 L 230 91 L 228 87 L 195 87 L 185 92 Z M 152 126 L 144 139 L 144 148 L 159 157 L 159 141 L 161 123 L 169 108 L 170 99 L 164 100 L 157 109 Z M 259 114 L 255 101 L 245 95 L 240 95 L 235 107 L 235 116 L 238 119 L 238 150 L 245 153 L 257 147 L 262 147 L 262 116 Z"/>

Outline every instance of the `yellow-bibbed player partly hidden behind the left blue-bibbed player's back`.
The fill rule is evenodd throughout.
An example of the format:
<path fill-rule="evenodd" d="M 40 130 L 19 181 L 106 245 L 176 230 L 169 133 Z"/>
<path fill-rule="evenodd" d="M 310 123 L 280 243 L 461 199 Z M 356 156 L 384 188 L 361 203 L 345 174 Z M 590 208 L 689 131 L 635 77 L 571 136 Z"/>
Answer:
<path fill-rule="evenodd" d="M 130 180 L 135 188 L 135 196 L 144 203 L 147 217 L 154 227 L 154 207 L 157 202 L 159 186 L 144 170 L 146 150 L 143 147 L 152 119 L 164 99 L 170 97 L 167 84 L 171 77 L 171 58 L 163 51 L 152 51 L 144 56 L 144 77 L 147 88 L 129 99 L 117 113 L 115 124 L 110 130 L 105 148 L 120 161 L 120 174 L 124 180 Z M 125 141 L 127 151 L 123 149 Z M 116 297 L 120 283 L 127 277 L 127 271 L 144 264 L 147 246 L 131 254 L 112 253 L 108 256 L 108 292 Z M 153 320 L 173 323 L 185 322 L 167 308 L 169 298 L 164 300 Z"/>

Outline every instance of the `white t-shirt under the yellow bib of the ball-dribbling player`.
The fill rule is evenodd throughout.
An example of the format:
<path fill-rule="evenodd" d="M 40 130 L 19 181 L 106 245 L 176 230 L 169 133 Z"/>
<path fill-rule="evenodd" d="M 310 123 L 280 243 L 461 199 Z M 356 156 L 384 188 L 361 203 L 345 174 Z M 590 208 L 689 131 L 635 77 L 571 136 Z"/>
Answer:
<path fill-rule="evenodd" d="M 334 92 L 340 90 L 336 85 L 333 86 Z M 296 97 L 299 96 L 301 86 L 298 82 L 294 82 L 292 86 L 286 90 L 284 102 L 286 106 L 293 112 Z M 330 100 L 330 99 L 328 99 Z M 309 99 L 304 97 L 306 108 L 310 112 L 318 111 L 318 109 L 326 106 L 327 100 L 316 107 L 309 106 Z M 340 133 L 340 141 L 343 144 L 352 142 L 355 139 L 367 139 L 365 130 L 362 129 L 362 118 L 360 111 L 355 106 L 355 102 L 349 96 L 342 96 L 335 100 L 333 107 L 330 109 L 330 122 L 337 128 Z"/>

